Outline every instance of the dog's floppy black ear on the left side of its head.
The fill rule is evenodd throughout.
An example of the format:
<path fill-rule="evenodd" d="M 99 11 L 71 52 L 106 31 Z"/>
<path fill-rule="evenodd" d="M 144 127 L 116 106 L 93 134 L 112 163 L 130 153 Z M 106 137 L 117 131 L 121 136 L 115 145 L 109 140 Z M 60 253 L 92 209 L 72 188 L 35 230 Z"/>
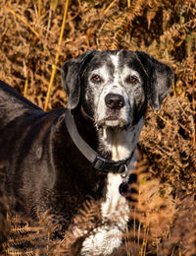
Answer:
<path fill-rule="evenodd" d="M 67 107 L 77 106 L 80 96 L 80 74 L 85 64 L 94 56 L 96 50 L 89 50 L 77 58 L 65 62 L 61 69 L 62 83 L 69 97 Z"/>

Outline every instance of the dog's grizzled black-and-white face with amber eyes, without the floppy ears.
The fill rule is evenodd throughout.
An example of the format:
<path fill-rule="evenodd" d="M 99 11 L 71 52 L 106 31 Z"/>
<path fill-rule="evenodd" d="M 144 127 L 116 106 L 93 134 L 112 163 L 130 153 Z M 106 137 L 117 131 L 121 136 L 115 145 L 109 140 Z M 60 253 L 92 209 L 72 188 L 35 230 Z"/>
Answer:
<path fill-rule="evenodd" d="M 126 127 L 141 117 L 147 76 L 133 53 L 96 54 L 82 79 L 82 105 L 99 127 Z"/>

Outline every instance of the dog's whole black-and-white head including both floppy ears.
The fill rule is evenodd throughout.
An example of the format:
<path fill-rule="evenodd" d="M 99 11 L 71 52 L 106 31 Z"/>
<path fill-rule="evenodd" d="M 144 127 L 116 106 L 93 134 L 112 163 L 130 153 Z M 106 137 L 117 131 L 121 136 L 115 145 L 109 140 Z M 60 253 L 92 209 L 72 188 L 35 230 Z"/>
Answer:
<path fill-rule="evenodd" d="M 91 50 L 62 68 L 68 108 L 78 104 L 99 127 L 127 127 L 156 110 L 172 88 L 170 67 L 136 51 Z"/>

